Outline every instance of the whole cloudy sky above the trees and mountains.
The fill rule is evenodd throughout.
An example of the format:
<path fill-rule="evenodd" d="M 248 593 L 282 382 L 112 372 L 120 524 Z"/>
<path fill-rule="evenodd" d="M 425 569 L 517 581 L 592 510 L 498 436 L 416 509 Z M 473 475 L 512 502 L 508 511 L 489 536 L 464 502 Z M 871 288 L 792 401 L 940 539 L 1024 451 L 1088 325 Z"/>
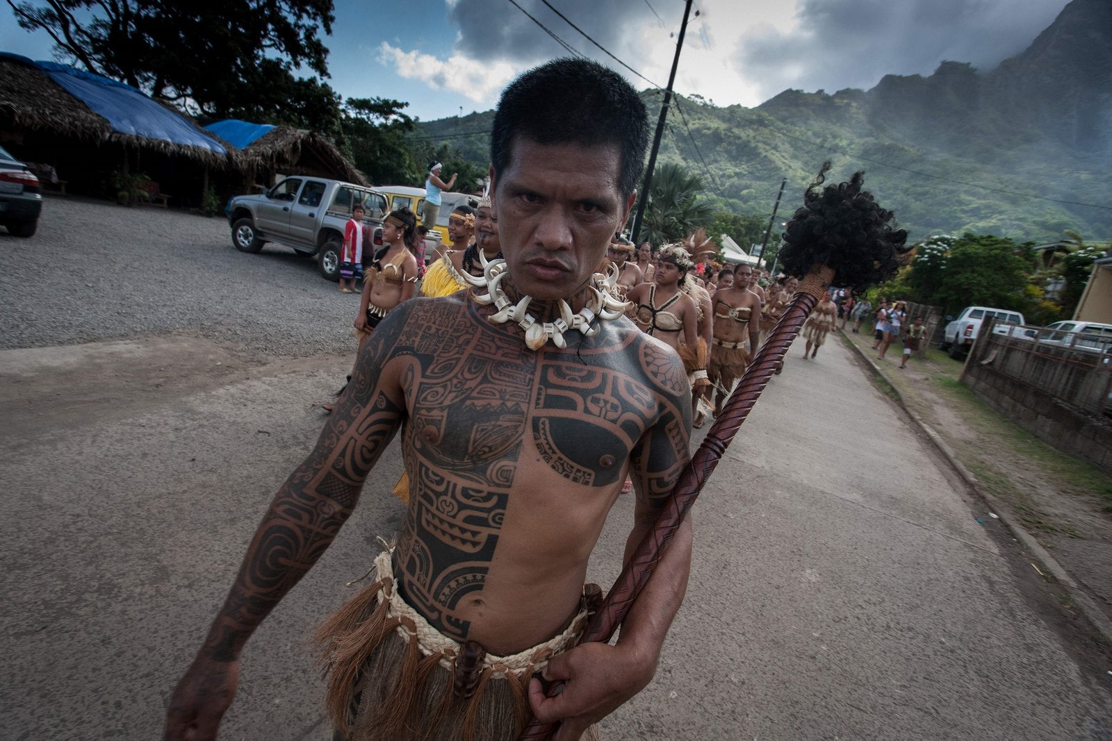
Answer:
<path fill-rule="evenodd" d="M 544 0 L 335 3 L 327 40 L 331 86 L 345 97 L 407 101 L 423 120 L 493 108 L 515 74 L 569 53 L 563 44 L 623 72 L 638 89 L 651 87 L 646 79 L 663 87 L 684 11 L 684 0 L 548 0 L 565 20 Z M 890 73 L 930 74 L 943 60 L 986 71 L 1025 49 L 1065 4 L 696 0 L 675 87 L 719 106 L 752 107 L 786 88 L 834 92 L 871 88 Z M 8 19 L 0 22 L 0 49 L 50 59 L 44 33 L 30 34 Z"/>

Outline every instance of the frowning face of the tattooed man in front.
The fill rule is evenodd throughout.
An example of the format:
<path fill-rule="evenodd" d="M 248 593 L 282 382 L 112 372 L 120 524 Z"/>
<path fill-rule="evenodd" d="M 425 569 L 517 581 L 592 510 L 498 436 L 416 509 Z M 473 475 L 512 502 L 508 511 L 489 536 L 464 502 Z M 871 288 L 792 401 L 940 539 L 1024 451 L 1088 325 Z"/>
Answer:
<path fill-rule="evenodd" d="M 603 262 L 634 196 L 623 198 L 617 144 L 515 138 L 495 183 L 498 238 L 514 284 L 536 299 L 577 293 Z"/>

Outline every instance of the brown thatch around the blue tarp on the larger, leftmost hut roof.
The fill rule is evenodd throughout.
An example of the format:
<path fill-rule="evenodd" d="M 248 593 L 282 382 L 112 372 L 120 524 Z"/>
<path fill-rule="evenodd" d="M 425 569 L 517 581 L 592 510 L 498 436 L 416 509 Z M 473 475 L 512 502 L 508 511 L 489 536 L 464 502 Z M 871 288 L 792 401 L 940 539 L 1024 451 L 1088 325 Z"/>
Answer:
<path fill-rule="evenodd" d="M 135 91 L 136 96 L 141 96 Z M 145 103 L 152 102 L 146 99 Z M 168 107 L 165 107 L 168 108 Z M 178 111 L 169 109 L 186 130 L 196 130 L 201 137 L 214 140 L 205 131 Z M 14 54 L 0 53 L 0 127 L 11 131 L 53 132 L 102 144 L 119 142 L 132 148 L 155 150 L 162 154 L 183 157 L 224 169 L 230 166 L 239 169 L 239 153 L 219 142 L 225 152 L 206 147 L 183 144 L 170 139 L 117 131 L 102 116 L 93 112 L 81 99 L 58 84 L 39 63 Z"/>

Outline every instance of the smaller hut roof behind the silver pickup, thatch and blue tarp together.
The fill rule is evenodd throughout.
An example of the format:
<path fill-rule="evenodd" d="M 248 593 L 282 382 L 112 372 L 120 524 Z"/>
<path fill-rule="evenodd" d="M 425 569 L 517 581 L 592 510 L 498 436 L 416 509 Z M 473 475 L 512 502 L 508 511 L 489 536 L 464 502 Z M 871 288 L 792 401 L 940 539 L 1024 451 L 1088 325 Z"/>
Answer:
<path fill-rule="evenodd" d="M 240 150 L 242 166 L 256 181 L 269 182 L 281 173 L 332 178 L 359 186 L 370 184 L 367 176 L 319 133 L 235 119 L 217 121 L 205 129 Z"/>

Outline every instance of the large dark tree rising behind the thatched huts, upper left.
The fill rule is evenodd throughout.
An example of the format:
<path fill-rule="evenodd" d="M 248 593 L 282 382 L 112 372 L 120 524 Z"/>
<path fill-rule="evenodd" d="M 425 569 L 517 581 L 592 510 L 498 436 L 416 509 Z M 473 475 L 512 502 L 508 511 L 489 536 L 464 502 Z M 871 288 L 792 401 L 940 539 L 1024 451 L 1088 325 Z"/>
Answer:
<path fill-rule="evenodd" d="M 328 77 L 332 0 L 36 0 L 19 24 L 44 30 L 90 72 L 211 118 L 339 132 Z M 298 77 L 299 69 L 312 76 Z"/>

